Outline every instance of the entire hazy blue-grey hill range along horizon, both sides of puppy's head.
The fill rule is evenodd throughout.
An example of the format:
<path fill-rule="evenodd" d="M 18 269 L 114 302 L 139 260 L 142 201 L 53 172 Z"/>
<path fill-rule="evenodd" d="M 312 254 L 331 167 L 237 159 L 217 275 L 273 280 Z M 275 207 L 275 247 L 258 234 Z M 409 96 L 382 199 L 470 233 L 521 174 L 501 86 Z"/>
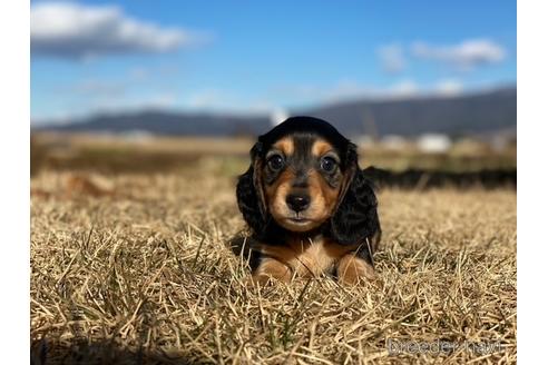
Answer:
<path fill-rule="evenodd" d="M 398 100 L 356 100 L 294 110 L 326 119 L 348 136 L 440 132 L 451 136 L 515 131 L 517 89 L 501 88 L 456 97 L 417 97 Z M 271 128 L 270 117 L 224 116 L 150 110 L 96 115 L 63 125 L 46 124 L 33 129 L 56 131 L 147 131 L 157 135 L 236 136 L 258 135 Z"/>

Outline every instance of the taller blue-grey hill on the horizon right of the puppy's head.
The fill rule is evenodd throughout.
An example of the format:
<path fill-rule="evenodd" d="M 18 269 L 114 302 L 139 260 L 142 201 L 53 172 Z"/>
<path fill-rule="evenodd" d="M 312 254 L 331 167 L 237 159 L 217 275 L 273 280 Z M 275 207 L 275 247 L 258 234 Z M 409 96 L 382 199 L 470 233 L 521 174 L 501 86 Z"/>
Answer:
<path fill-rule="evenodd" d="M 477 135 L 516 129 L 517 89 L 458 97 L 350 101 L 307 114 L 336 120 L 348 135 L 417 136 L 425 132 Z"/>

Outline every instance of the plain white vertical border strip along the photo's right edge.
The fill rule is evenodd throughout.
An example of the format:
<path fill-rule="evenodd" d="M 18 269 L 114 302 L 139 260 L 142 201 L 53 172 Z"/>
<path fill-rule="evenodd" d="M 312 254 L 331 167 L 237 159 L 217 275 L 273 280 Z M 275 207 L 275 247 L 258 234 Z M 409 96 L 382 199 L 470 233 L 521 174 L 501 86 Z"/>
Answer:
<path fill-rule="evenodd" d="M 497 11 L 493 9 L 493 11 Z M 518 359 L 545 358 L 548 267 L 546 1 L 518 2 Z"/>

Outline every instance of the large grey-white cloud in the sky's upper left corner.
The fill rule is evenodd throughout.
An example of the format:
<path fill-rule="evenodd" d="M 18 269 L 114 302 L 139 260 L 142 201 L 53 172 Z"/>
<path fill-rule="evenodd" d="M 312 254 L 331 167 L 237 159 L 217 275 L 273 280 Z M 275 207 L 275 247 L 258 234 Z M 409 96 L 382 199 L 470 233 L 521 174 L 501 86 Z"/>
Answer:
<path fill-rule="evenodd" d="M 174 51 L 200 37 L 130 18 L 114 6 L 40 2 L 30 10 L 30 40 L 33 56 L 90 59 Z"/>

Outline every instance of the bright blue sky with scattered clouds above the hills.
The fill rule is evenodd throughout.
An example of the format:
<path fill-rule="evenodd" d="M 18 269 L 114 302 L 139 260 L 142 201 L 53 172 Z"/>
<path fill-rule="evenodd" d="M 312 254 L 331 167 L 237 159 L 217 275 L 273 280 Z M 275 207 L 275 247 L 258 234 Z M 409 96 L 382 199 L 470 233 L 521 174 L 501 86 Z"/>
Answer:
<path fill-rule="evenodd" d="M 32 1 L 31 117 L 516 83 L 516 1 Z"/>

